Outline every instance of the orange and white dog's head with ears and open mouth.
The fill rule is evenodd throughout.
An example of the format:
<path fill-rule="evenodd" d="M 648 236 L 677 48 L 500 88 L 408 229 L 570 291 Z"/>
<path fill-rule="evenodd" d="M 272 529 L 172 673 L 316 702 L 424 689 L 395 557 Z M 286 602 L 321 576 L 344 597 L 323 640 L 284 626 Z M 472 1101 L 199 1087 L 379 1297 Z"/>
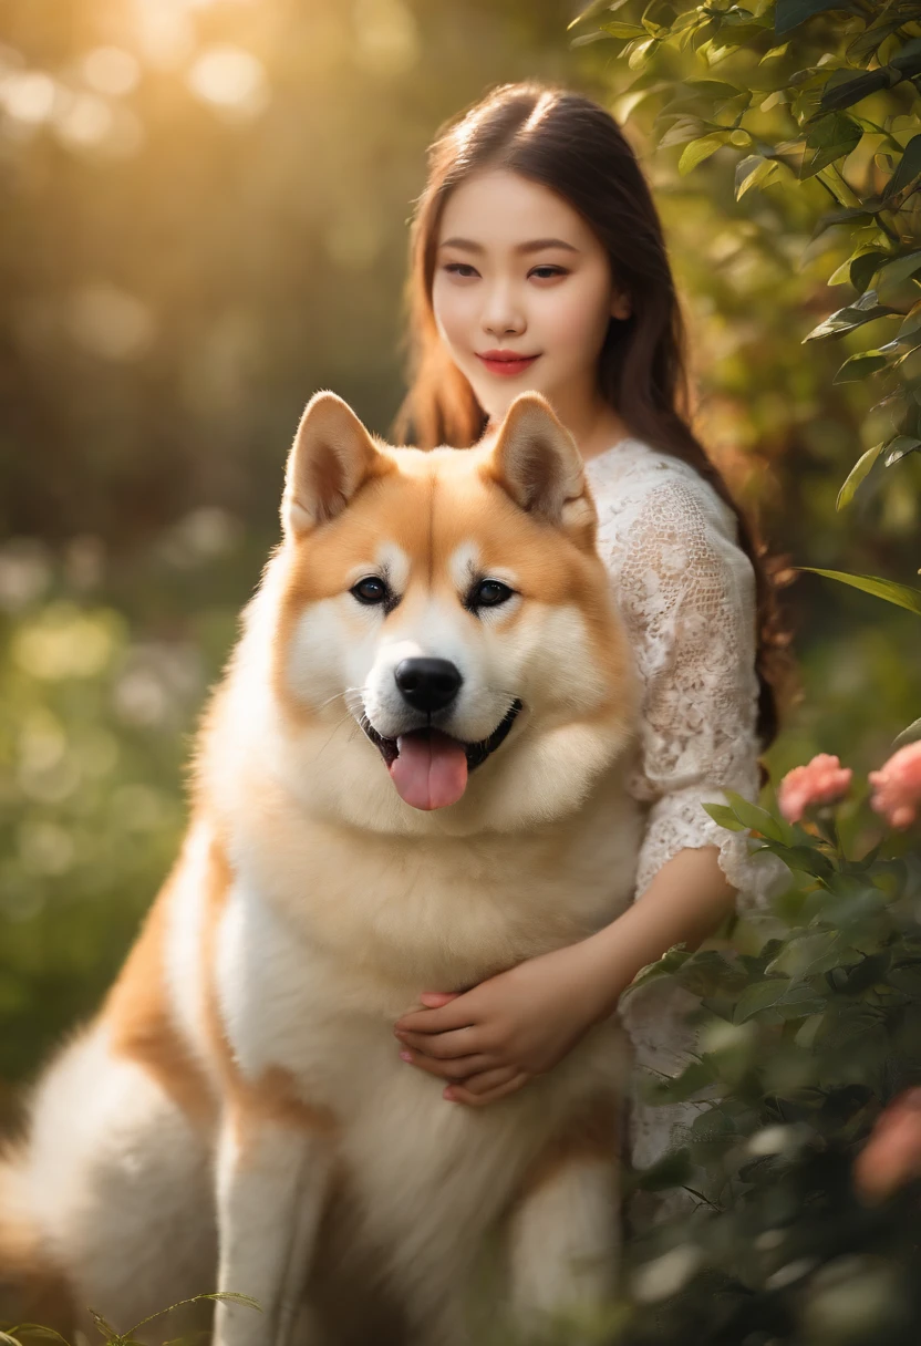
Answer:
<path fill-rule="evenodd" d="M 275 699 L 337 812 L 514 826 L 568 812 L 625 748 L 636 688 L 595 510 L 539 394 L 489 443 L 421 452 L 318 393 L 281 518 Z"/>

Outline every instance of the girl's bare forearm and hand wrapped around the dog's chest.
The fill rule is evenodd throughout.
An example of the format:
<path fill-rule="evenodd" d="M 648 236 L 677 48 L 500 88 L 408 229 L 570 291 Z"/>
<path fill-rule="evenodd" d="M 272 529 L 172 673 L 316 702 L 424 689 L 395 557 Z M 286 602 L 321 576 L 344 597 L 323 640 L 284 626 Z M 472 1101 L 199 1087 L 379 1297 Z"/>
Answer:
<path fill-rule="evenodd" d="M 697 945 L 731 911 L 737 890 L 718 848 L 685 848 L 598 934 L 529 958 L 459 996 L 421 996 L 428 1008 L 396 1024 L 401 1055 L 448 1082 L 446 1097 L 493 1102 L 556 1065 L 617 1008 L 637 972 L 675 944 Z"/>

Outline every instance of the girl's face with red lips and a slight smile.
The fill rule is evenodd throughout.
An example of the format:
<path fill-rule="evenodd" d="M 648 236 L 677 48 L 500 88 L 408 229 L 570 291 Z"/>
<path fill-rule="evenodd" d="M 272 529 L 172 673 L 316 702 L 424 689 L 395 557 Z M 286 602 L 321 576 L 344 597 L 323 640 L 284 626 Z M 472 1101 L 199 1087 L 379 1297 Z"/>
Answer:
<path fill-rule="evenodd" d="M 629 300 L 561 197 L 506 168 L 463 182 L 442 211 L 432 285 L 442 341 L 494 421 L 535 389 L 566 421 L 596 398 L 611 316 Z"/>

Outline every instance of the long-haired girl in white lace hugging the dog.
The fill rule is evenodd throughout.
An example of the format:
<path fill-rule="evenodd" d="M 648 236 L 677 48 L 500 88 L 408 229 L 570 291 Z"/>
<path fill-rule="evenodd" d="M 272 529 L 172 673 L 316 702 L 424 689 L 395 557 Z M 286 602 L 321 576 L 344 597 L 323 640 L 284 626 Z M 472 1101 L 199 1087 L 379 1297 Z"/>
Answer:
<path fill-rule="evenodd" d="M 734 902 L 770 896 L 778 870 L 751 863 L 747 833 L 719 828 L 703 804 L 726 802 L 722 787 L 757 798 L 785 641 L 751 532 L 687 423 L 661 225 L 605 109 L 506 85 L 448 127 L 413 221 L 409 297 L 397 440 L 466 447 L 518 393 L 544 393 L 586 460 L 644 684 L 632 793 L 648 812 L 632 909 L 463 995 L 425 988 L 425 1008 L 396 1024 L 407 1062 L 481 1108 L 551 1070 L 645 964 L 699 942 Z M 676 1071 L 692 1004 L 665 983 L 625 1003 L 641 1067 Z M 634 1100 L 634 1164 L 668 1147 L 675 1113 Z"/>

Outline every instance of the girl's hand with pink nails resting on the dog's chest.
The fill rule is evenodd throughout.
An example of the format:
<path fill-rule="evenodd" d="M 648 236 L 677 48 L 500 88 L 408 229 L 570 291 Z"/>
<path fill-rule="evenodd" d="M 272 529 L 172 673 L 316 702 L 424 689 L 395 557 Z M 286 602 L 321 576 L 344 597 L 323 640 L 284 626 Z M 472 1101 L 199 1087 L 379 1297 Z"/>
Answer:
<path fill-rule="evenodd" d="M 404 1061 L 448 1079 L 444 1097 L 474 1108 L 544 1074 L 610 1011 L 610 984 L 586 966 L 587 945 L 529 958 L 463 995 L 425 992 L 425 1010 L 393 1031 Z"/>

